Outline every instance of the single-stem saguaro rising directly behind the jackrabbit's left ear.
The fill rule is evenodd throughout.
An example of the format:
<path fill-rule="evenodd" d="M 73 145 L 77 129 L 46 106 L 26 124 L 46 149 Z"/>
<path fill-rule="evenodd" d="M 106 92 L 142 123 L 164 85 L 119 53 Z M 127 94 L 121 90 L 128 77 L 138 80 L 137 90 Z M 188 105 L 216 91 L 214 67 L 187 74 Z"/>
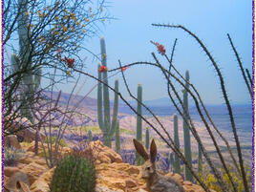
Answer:
<path fill-rule="evenodd" d="M 138 106 L 137 106 L 137 130 L 136 130 L 136 139 L 142 142 L 142 121 L 141 121 L 141 115 L 142 115 L 142 108 L 141 108 L 141 102 L 142 102 L 142 86 L 138 85 Z M 140 115 L 140 116 L 139 116 Z M 141 165 L 143 163 L 143 159 L 139 156 L 139 154 L 136 152 L 136 164 Z"/>

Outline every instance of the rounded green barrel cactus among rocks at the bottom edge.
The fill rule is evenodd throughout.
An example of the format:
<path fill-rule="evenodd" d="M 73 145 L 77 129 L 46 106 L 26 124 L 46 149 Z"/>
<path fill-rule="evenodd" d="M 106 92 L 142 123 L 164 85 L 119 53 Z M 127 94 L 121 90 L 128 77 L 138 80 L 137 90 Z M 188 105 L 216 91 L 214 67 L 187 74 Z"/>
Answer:
<path fill-rule="evenodd" d="M 96 169 L 91 160 L 69 155 L 60 160 L 54 170 L 51 192 L 93 192 Z"/>

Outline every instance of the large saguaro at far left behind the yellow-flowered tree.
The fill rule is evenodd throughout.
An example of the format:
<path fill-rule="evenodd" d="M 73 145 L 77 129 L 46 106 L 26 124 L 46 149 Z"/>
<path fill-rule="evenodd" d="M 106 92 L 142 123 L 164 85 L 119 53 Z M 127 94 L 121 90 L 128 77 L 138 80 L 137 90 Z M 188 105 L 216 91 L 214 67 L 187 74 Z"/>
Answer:
<path fill-rule="evenodd" d="M 37 90 L 41 80 L 41 68 L 32 71 L 32 48 L 30 40 L 28 0 L 18 0 L 20 14 L 17 18 L 18 37 L 19 37 L 19 56 L 11 55 L 11 66 L 13 73 L 24 70 L 21 76 L 21 115 L 27 117 L 32 122 L 34 121 L 30 105 L 33 101 L 33 96 Z"/>

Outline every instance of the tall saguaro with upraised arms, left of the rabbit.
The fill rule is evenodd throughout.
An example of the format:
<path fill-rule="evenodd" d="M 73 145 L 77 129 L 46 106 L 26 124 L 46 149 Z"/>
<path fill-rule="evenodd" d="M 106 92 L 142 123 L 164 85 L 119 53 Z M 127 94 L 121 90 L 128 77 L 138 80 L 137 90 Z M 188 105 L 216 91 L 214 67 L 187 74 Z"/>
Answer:
<path fill-rule="evenodd" d="M 100 39 L 101 49 L 101 63 L 102 66 L 107 66 L 107 54 L 105 40 L 102 37 Z M 101 73 L 103 76 L 101 76 Z M 102 78 L 103 77 L 103 78 Z M 108 84 L 107 71 L 98 71 L 98 79 Z M 106 85 L 103 84 L 103 100 L 102 100 L 102 85 L 98 83 L 97 86 L 97 119 L 100 130 L 103 133 L 103 142 L 106 146 L 111 147 L 111 139 L 113 138 L 117 126 L 117 110 L 118 110 L 118 80 L 115 81 L 115 101 L 112 123 L 110 122 L 110 101 L 109 101 L 109 90 Z M 103 109 L 104 108 L 104 109 Z M 103 112 L 102 112 L 103 111 Z M 104 115 L 103 115 L 104 114 Z"/>

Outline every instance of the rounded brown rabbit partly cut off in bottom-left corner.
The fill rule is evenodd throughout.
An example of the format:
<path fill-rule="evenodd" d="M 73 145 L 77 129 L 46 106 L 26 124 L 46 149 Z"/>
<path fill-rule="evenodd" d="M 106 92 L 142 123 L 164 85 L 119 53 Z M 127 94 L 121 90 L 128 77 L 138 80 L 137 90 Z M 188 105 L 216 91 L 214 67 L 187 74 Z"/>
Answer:
<path fill-rule="evenodd" d="M 6 183 L 4 192 L 31 192 L 29 177 L 23 172 L 14 173 Z"/>

